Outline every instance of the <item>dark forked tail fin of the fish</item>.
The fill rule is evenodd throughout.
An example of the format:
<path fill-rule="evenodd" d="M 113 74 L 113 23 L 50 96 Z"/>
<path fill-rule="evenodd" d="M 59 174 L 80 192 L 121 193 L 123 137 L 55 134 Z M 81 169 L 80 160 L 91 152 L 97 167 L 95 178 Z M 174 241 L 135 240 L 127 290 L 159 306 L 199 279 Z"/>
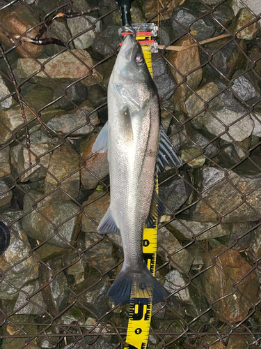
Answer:
<path fill-rule="evenodd" d="M 132 272 L 132 269 L 123 266 L 109 289 L 110 301 L 115 305 L 129 303 L 132 285 L 137 285 L 139 297 L 149 297 L 150 290 L 153 290 L 153 304 L 162 302 L 168 295 L 164 287 L 152 276 L 145 264 L 141 272 Z"/>

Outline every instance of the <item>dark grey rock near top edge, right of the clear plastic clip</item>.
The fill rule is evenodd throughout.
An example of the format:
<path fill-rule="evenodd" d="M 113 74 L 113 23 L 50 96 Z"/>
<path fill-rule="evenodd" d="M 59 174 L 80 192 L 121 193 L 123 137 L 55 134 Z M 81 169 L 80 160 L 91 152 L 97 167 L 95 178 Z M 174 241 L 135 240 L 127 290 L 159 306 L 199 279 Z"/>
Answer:
<path fill-rule="evenodd" d="M 215 32 L 212 18 L 210 16 L 205 16 L 197 20 L 200 15 L 203 15 L 203 13 L 200 13 L 196 8 L 194 8 L 193 5 L 188 7 L 186 7 L 185 5 L 175 7 L 172 13 L 172 17 L 177 22 L 182 24 L 183 27 L 187 28 L 184 29 L 180 24 L 177 24 L 173 20 L 172 29 L 175 37 L 181 36 L 182 34 L 191 31 L 191 34 L 198 41 L 211 38 Z M 193 24 L 191 25 L 191 27 L 189 27 L 189 24 L 191 24 L 191 22 L 193 22 Z"/>

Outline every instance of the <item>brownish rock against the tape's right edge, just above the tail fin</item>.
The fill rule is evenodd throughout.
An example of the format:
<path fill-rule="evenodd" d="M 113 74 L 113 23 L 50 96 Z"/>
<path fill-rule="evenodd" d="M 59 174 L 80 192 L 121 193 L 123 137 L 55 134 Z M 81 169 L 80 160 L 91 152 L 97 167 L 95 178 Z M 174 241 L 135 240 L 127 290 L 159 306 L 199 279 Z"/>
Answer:
<path fill-rule="evenodd" d="M 182 248 L 174 235 L 165 227 L 158 231 L 158 244 L 157 253 L 164 262 L 169 261 L 170 265 L 180 272 L 189 272 L 193 263 L 192 255 L 185 248 Z"/>

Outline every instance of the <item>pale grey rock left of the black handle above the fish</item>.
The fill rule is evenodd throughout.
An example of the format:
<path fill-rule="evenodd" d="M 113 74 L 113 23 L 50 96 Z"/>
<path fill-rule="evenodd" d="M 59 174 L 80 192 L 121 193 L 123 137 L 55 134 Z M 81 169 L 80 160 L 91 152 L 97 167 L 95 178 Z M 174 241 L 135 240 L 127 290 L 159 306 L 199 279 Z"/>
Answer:
<path fill-rule="evenodd" d="M 75 48 L 84 50 L 93 45 L 95 32 L 100 33 L 101 31 L 101 22 L 95 21 L 96 18 L 89 15 L 84 15 L 84 17 L 69 18 L 67 20 L 67 24 L 72 36 L 76 36 L 76 38 L 72 40 Z M 94 29 L 95 32 L 93 31 Z M 83 31 L 84 34 L 80 34 Z"/>

